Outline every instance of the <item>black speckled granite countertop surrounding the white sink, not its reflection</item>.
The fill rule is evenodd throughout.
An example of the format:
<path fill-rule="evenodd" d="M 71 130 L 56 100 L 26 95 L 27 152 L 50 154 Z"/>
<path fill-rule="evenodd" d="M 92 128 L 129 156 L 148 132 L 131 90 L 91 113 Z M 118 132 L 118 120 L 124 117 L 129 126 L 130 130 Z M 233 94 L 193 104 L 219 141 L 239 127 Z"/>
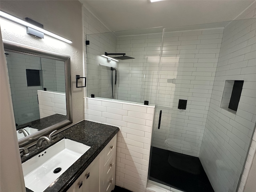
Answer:
<path fill-rule="evenodd" d="M 56 179 L 52 186 L 44 190 L 44 192 L 66 192 L 118 131 L 118 127 L 83 120 L 52 136 L 52 144 L 48 145 L 44 141 L 43 147 L 40 150 L 36 149 L 35 145 L 30 147 L 30 155 L 28 157 L 22 157 L 22 163 L 62 138 L 69 138 L 90 145 L 91 148 L 85 154 Z M 28 188 L 26 188 L 26 191 L 32 192 Z"/>

